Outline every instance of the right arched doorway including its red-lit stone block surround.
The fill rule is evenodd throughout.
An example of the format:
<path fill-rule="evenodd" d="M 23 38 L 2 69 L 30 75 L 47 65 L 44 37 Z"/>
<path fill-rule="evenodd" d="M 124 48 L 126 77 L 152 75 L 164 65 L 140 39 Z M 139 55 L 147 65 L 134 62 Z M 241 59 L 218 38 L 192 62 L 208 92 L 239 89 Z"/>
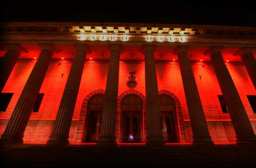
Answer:
<path fill-rule="evenodd" d="M 159 90 L 161 126 L 166 142 L 185 141 L 186 131 L 180 101 L 177 96 L 167 90 Z"/>

